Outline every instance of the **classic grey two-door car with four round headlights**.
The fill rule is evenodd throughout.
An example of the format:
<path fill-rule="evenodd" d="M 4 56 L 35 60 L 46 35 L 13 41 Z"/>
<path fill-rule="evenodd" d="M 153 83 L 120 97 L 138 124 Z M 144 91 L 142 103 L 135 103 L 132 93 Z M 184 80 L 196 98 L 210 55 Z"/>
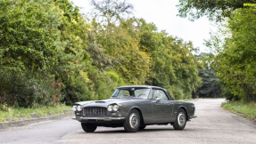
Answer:
<path fill-rule="evenodd" d="M 156 86 L 122 86 L 111 99 L 76 102 L 72 111 L 85 132 L 95 132 L 97 126 L 124 127 L 136 132 L 151 124 L 171 124 L 183 130 L 194 118 L 194 104 L 173 100 L 165 89 Z"/>

